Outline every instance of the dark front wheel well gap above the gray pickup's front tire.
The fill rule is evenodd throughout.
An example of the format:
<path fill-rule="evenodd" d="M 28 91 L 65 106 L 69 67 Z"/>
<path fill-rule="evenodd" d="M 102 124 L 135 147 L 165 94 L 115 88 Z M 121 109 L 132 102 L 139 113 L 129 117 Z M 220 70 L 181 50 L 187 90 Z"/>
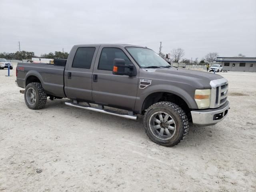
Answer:
<path fill-rule="evenodd" d="M 180 108 L 184 110 L 184 112 L 188 116 L 188 120 L 191 120 L 191 113 L 188 104 L 180 96 L 168 92 L 156 92 L 148 95 L 142 105 L 142 114 L 144 114 L 145 110 L 149 108 L 152 104 L 161 101 L 169 101 L 177 104 Z"/>

